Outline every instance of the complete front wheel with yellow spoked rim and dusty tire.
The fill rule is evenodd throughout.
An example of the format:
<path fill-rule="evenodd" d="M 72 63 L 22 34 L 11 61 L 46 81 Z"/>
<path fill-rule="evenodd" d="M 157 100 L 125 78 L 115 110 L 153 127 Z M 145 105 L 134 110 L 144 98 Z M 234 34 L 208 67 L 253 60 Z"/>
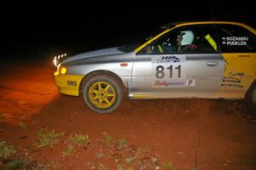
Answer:
<path fill-rule="evenodd" d="M 123 100 L 122 89 L 122 84 L 115 77 L 98 74 L 85 82 L 84 102 L 97 113 L 112 112 Z"/>

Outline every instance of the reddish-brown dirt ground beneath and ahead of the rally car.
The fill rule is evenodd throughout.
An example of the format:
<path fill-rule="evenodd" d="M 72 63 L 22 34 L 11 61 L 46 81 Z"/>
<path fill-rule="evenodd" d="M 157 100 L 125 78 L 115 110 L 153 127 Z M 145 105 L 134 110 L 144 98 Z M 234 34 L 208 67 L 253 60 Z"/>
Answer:
<path fill-rule="evenodd" d="M 147 159 L 157 157 L 177 169 L 191 169 L 195 163 L 207 170 L 256 169 L 256 118 L 241 101 L 125 99 L 119 110 L 99 115 L 84 105 L 82 97 L 58 93 L 54 69 L 50 62 L 7 63 L 0 69 L 0 141 L 15 145 L 32 160 L 54 160 L 60 165 L 55 169 L 90 169 L 89 162 L 117 169 L 125 154 L 114 161 L 107 156 L 112 146 L 106 149 L 101 143 L 107 132 L 114 139 L 127 139 L 131 148 L 147 150 Z M 42 129 L 65 134 L 52 148 L 38 148 Z M 75 133 L 87 134 L 90 145 L 63 156 L 68 137 Z M 99 156 L 101 152 L 105 155 Z"/>

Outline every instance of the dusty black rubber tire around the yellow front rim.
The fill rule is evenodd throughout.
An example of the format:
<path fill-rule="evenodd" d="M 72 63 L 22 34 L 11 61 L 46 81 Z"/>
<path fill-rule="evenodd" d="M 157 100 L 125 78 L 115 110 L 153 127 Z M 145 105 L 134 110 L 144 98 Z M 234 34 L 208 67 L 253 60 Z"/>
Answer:
<path fill-rule="evenodd" d="M 86 82 L 84 82 L 84 91 L 83 91 L 84 102 L 90 108 L 90 110 L 95 111 L 96 113 L 107 114 L 119 108 L 119 105 L 122 103 L 122 100 L 124 98 L 124 88 L 123 88 L 122 82 L 120 82 L 116 77 L 113 77 L 112 75 L 106 74 L 106 73 L 98 73 L 96 75 L 89 77 L 85 81 Z M 91 95 L 90 89 L 97 82 L 104 82 L 104 83 L 106 82 L 110 84 L 112 86 L 111 89 L 115 91 L 115 99 L 113 101 L 113 104 L 106 108 L 101 108 L 96 106 L 93 103 L 94 101 L 92 101 L 92 99 L 90 98 L 90 95 Z"/>

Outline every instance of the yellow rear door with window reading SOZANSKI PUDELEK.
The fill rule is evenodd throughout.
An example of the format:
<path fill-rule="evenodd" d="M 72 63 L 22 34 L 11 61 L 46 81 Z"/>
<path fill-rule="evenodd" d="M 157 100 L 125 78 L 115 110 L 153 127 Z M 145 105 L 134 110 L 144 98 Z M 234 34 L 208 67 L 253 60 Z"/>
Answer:
<path fill-rule="evenodd" d="M 256 38 L 245 27 L 217 25 L 221 51 L 225 61 L 223 98 L 243 98 L 255 80 Z"/>

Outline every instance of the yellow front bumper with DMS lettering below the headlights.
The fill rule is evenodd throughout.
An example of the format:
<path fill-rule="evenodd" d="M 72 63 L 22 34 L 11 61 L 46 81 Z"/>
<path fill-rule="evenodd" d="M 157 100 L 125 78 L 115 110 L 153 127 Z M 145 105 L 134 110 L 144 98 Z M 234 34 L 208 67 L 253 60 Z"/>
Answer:
<path fill-rule="evenodd" d="M 61 94 L 79 96 L 79 85 L 84 75 L 59 75 L 55 74 L 55 85 Z"/>

